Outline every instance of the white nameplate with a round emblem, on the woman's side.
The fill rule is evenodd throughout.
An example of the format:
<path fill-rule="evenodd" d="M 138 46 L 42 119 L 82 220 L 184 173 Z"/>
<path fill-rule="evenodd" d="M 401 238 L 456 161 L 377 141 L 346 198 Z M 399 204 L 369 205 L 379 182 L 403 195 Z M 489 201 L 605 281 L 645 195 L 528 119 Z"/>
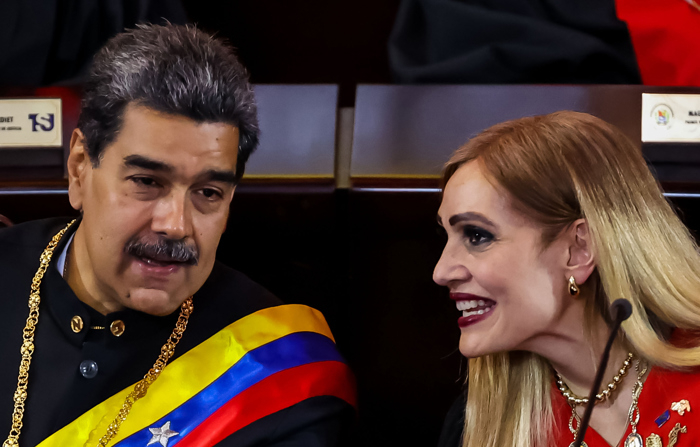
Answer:
<path fill-rule="evenodd" d="M 642 141 L 700 142 L 700 95 L 643 93 Z"/>

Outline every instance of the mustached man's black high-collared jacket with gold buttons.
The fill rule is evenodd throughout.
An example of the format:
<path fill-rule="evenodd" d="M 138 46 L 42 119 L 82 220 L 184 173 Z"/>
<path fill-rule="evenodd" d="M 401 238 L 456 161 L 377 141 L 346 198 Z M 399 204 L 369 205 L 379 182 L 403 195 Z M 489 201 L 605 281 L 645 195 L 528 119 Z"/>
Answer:
<path fill-rule="evenodd" d="M 42 251 L 67 222 L 50 219 L 0 230 L 2 440 L 10 431 L 31 281 Z M 37 445 L 98 403 L 140 380 L 158 358 L 179 315 L 177 311 L 155 317 L 132 310 L 101 315 L 79 301 L 56 268 L 56 260 L 76 228 L 77 225 L 73 225 L 69 229 L 54 251 L 41 285 L 36 350 L 29 372 L 24 427 L 19 438 L 22 447 Z M 171 362 L 232 322 L 260 309 L 282 304 L 245 275 L 218 262 L 193 301 L 194 313 Z M 71 330 L 70 321 L 75 315 L 82 318 L 86 328 L 79 333 Z M 108 329 L 117 319 L 125 326 L 120 337 L 113 336 Z M 107 329 L 87 329 L 91 326 Z M 84 360 L 98 365 L 94 378 L 81 375 L 79 365 Z M 354 417 L 352 407 L 339 398 L 313 397 L 253 422 L 218 445 L 336 445 Z"/>

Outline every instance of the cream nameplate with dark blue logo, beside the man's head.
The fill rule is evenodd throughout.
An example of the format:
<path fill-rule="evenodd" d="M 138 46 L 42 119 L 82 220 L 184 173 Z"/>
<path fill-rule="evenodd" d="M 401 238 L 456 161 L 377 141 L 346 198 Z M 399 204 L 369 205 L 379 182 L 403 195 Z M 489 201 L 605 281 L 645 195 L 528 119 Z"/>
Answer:
<path fill-rule="evenodd" d="M 0 99 L 0 149 L 61 147 L 59 98 Z"/>

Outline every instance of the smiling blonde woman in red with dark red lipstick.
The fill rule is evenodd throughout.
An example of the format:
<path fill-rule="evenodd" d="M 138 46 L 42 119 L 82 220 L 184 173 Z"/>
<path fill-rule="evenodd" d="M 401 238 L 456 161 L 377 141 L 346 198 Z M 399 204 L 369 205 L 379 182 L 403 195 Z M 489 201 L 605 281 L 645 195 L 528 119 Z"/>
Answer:
<path fill-rule="evenodd" d="M 619 130 L 575 112 L 485 130 L 447 163 L 438 221 L 469 358 L 441 446 L 570 445 L 621 297 L 585 443 L 700 446 L 698 247 Z"/>

